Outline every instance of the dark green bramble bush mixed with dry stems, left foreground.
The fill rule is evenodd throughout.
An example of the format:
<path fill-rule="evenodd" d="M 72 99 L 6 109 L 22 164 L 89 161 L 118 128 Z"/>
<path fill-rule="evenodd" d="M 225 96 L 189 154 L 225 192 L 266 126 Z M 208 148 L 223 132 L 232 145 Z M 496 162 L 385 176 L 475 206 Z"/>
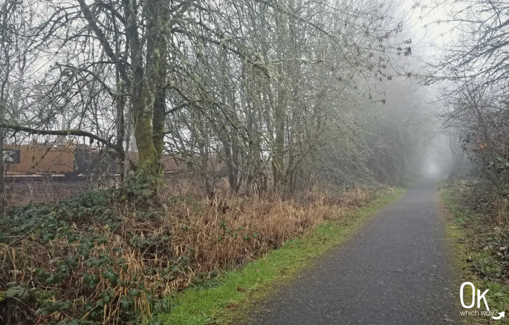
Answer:
<path fill-rule="evenodd" d="M 166 258 L 169 234 L 144 228 L 150 211 L 130 217 L 135 209 L 116 198 L 87 191 L 0 218 L 3 323 L 123 323 L 167 308 L 157 294 L 185 259 Z"/>

